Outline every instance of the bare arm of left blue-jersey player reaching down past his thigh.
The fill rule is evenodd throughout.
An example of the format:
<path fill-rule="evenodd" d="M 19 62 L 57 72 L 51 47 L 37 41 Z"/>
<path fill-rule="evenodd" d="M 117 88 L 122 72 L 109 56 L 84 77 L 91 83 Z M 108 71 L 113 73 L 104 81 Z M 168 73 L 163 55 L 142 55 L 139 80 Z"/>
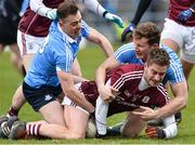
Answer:
<path fill-rule="evenodd" d="M 80 107 L 84 108 L 89 113 L 93 113 L 94 107 L 92 104 L 89 103 L 86 97 L 75 88 L 72 74 L 57 70 L 57 76 L 64 93 Z"/>

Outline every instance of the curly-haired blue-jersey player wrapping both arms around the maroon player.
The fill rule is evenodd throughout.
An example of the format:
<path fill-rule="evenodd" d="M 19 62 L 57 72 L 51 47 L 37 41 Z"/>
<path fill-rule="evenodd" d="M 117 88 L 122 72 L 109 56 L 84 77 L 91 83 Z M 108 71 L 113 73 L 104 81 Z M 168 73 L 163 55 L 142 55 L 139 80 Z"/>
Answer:
<path fill-rule="evenodd" d="M 112 102 L 115 97 L 112 93 L 113 88 L 105 85 L 105 74 L 114 67 L 125 63 L 143 64 L 147 58 L 151 49 L 157 49 L 159 45 L 160 31 L 153 23 L 143 23 L 133 31 L 133 42 L 122 45 L 117 50 L 115 55 L 107 58 L 96 70 L 96 84 L 99 93 L 105 102 Z M 164 107 L 152 110 L 147 107 L 142 113 L 134 113 L 144 120 L 159 119 L 178 113 L 186 106 L 187 84 L 183 75 L 182 65 L 177 54 L 161 45 L 170 56 L 170 67 L 165 76 L 164 83 L 170 82 L 170 88 L 174 98 Z"/>

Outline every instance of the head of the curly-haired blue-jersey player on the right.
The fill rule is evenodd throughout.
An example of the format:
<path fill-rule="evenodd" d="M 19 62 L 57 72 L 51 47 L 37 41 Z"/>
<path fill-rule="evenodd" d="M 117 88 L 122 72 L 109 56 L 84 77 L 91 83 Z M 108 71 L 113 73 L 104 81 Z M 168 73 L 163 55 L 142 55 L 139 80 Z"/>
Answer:
<path fill-rule="evenodd" d="M 133 42 L 135 45 L 136 57 L 146 61 L 151 49 L 159 45 L 160 30 L 151 22 L 140 24 L 133 30 Z"/>

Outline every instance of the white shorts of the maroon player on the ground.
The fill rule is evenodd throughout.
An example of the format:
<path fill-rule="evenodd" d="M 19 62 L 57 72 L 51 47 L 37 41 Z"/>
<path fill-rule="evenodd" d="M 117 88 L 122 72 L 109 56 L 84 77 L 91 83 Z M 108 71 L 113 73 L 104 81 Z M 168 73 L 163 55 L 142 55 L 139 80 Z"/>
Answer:
<path fill-rule="evenodd" d="M 80 85 L 81 85 L 81 82 L 75 84 L 75 87 L 76 87 L 77 89 L 78 89 Z M 76 108 L 78 108 L 78 109 L 80 109 L 80 110 L 82 110 L 83 113 L 86 113 L 86 114 L 89 115 L 89 113 L 88 113 L 86 109 L 83 109 L 82 107 L 78 106 L 78 105 L 77 105 L 76 103 L 74 103 L 68 96 L 64 96 L 64 100 L 63 100 L 63 102 L 62 102 L 62 105 L 68 105 L 68 106 L 76 107 Z"/>

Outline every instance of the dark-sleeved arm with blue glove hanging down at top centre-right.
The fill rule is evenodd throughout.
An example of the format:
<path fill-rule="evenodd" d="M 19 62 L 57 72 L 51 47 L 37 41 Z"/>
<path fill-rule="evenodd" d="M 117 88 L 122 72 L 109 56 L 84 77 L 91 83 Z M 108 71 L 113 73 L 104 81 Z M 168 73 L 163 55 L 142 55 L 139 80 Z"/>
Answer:
<path fill-rule="evenodd" d="M 126 40 L 126 36 L 128 34 L 132 35 L 133 29 L 139 24 L 140 19 L 142 18 L 142 15 L 145 13 L 145 11 L 150 6 L 151 2 L 152 2 L 152 0 L 140 0 L 139 6 L 136 9 L 133 19 L 130 22 L 129 26 L 127 28 L 125 28 L 125 30 L 121 35 L 122 42 Z"/>

